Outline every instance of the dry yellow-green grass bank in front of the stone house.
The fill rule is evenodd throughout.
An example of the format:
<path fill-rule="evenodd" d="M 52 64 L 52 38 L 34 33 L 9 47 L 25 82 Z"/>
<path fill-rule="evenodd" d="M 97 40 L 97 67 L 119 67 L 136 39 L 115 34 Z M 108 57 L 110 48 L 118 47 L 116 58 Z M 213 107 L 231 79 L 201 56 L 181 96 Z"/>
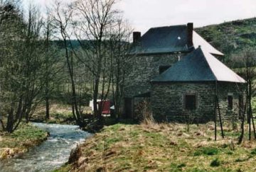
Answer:
<path fill-rule="evenodd" d="M 246 127 L 245 127 L 246 128 Z M 236 125 L 214 141 L 214 124 L 116 124 L 87 139 L 80 158 L 57 171 L 256 171 L 256 142 L 236 144 Z M 245 136 L 247 138 L 247 136 Z"/>

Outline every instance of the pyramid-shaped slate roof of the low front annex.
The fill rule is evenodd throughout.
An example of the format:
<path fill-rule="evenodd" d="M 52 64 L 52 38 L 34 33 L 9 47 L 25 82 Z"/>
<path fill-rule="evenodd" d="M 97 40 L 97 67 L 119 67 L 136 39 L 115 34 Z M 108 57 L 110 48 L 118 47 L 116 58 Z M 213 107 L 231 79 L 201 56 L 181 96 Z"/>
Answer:
<path fill-rule="evenodd" d="M 235 74 L 234 71 L 201 47 L 193 50 L 151 81 L 228 81 L 245 83 L 245 80 L 238 74 Z"/>

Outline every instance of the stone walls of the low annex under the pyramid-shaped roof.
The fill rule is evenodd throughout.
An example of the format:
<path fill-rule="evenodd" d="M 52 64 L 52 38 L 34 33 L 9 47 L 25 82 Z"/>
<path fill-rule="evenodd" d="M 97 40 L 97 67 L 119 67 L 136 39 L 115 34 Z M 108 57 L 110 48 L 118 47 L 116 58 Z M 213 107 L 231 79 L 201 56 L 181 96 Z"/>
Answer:
<path fill-rule="evenodd" d="M 196 94 L 196 110 L 186 110 L 184 96 Z M 228 93 L 233 94 L 233 110 L 228 110 Z M 219 83 L 218 100 L 223 120 L 238 120 L 236 84 Z M 215 82 L 154 83 L 151 85 L 152 112 L 156 120 L 208 122 L 215 120 Z"/>

